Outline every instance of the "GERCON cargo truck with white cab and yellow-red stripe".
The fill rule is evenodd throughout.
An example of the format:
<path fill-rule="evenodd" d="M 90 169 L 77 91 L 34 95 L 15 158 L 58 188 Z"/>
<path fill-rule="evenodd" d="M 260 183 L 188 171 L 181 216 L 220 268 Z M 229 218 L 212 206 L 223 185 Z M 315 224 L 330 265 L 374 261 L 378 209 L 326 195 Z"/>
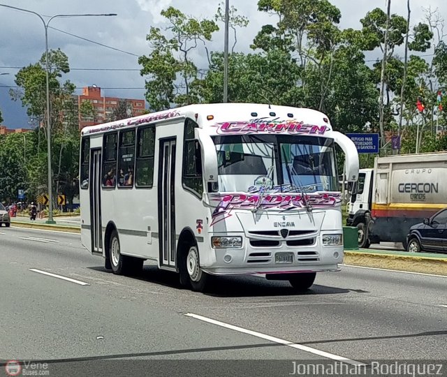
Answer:
<path fill-rule="evenodd" d="M 447 207 L 447 152 L 376 157 L 351 186 L 348 226 L 358 244 L 402 242 L 409 228 Z"/>

